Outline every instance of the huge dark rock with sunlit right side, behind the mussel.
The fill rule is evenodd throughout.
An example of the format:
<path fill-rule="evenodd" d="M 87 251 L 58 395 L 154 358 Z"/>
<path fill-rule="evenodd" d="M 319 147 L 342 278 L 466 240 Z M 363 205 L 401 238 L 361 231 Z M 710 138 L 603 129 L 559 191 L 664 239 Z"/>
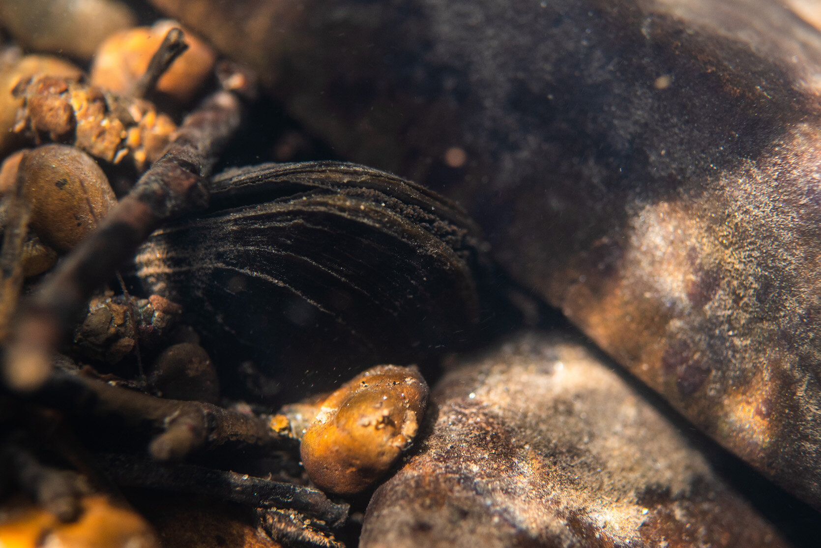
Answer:
<path fill-rule="evenodd" d="M 154 0 L 821 508 L 821 35 L 771 0 Z"/>

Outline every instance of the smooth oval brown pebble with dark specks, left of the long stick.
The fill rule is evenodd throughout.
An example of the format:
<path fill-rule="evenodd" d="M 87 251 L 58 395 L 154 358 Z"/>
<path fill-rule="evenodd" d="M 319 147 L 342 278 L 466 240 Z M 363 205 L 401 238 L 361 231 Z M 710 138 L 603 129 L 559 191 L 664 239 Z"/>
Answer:
<path fill-rule="evenodd" d="M 80 243 L 117 203 L 103 170 L 72 146 L 39 146 L 25 153 L 20 169 L 30 227 L 59 252 Z"/>

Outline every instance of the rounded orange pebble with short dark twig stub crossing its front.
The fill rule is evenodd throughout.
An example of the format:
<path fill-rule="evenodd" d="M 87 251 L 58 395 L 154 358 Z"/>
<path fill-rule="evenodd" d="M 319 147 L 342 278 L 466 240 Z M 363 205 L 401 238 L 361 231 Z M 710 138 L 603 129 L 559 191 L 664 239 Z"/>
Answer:
<path fill-rule="evenodd" d="M 120 94 L 130 94 L 143 76 L 154 53 L 163 43 L 173 21 L 158 21 L 118 32 L 100 45 L 91 67 L 91 83 Z M 157 82 L 157 91 L 179 102 L 192 99 L 210 76 L 216 55 L 195 35 L 185 31 L 189 48 L 168 67 Z"/>

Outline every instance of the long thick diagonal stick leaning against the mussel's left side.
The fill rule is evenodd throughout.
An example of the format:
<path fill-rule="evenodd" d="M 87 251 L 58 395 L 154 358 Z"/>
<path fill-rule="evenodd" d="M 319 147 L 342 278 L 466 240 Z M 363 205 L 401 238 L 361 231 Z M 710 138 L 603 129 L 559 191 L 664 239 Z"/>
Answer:
<path fill-rule="evenodd" d="M 208 205 L 204 177 L 240 119 L 240 99 L 228 91 L 211 95 L 186 117 L 163 157 L 27 303 L 4 362 L 7 385 L 24 391 L 42 385 L 54 349 L 94 289 L 164 221 Z"/>

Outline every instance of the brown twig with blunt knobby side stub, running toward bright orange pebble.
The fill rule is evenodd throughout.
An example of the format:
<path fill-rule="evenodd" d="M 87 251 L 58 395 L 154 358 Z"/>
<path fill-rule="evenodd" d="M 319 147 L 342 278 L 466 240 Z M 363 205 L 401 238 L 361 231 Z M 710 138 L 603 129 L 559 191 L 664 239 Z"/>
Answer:
<path fill-rule="evenodd" d="M 55 372 L 33 396 L 46 407 L 71 414 L 117 416 L 137 429 L 163 431 L 149 448 L 159 460 L 182 458 L 193 449 L 222 444 L 265 447 L 290 443 L 254 416 L 210 403 L 156 398 L 82 375 Z"/>

